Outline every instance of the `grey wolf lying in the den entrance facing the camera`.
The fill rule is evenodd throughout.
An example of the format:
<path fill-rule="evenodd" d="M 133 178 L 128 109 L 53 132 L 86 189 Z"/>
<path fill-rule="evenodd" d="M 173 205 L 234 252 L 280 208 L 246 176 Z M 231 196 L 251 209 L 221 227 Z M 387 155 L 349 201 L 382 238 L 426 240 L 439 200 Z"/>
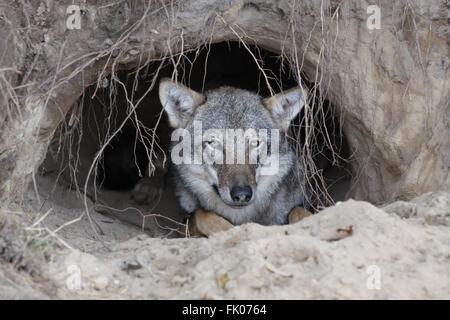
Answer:
<path fill-rule="evenodd" d="M 262 98 L 256 93 L 229 86 L 200 93 L 164 78 L 160 81 L 159 98 L 171 127 L 193 137 L 189 141 L 192 151 L 183 150 L 182 153 L 187 153 L 183 157 L 194 155 L 197 150 L 202 150 L 203 156 L 225 155 L 229 150 L 223 146 L 224 142 L 207 134 L 214 130 L 248 132 L 253 129 L 250 132 L 257 132 L 263 129 L 280 133 L 278 150 L 268 151 L 265 160 L 253 163 L 187 161 L 173 165 L 176 194 L 187 213 L 200 208 L 213 211 L 234 225 L 249 222 L 280 225 L 287 222 L 293 208 L 306 205 L 304 169 L 288 141 L 290 122 L 306 103 L 306 92 L 302 87 Z M 201 124 L 201 131 L 198 128 L 196 131 L 196 123 Z M 202 137 L 196 139 L 194 134 L 199 133 Z M 179 141 L 172 142 L 172 151 L 177 142 L 179 144 Z M 270 141 L 252 136 L 248 143 L 239 147 L 248 155 L 250 149 L 261 148 L 260 144 L 264 143 L 270 144 Z M 274 155 L 278 163 L 276 172 L 263 175 L 264 165 L 274 160 Z"/>

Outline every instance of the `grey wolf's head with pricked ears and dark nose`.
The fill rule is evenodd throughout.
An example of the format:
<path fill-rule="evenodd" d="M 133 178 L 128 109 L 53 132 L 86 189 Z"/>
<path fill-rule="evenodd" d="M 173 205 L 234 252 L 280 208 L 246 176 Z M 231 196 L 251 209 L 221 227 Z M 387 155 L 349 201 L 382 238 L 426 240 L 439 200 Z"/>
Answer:
<path fill-rule="evenodd" d="M 267 206 L 294 162 L 285 133 L 306 101 L 302 88 L 263 99 L 232 87 L 203 94 L 163 79 L 159 96 L 171 126 L 188 138 L 178 172 L 203 208 L 227 217 Z"/>

